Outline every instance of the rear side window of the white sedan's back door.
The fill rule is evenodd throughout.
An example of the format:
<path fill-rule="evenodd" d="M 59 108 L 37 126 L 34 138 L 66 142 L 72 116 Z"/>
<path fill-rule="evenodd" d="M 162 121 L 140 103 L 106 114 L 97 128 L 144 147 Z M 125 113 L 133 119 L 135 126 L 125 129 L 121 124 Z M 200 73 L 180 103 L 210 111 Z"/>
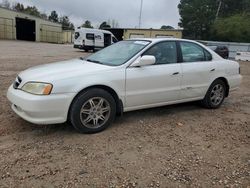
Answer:
<path fill-rule="evenodd" d="M 183 62 L 200 62 L 212 60 L 212 55 L 192 42 L 180 42 Z"/>

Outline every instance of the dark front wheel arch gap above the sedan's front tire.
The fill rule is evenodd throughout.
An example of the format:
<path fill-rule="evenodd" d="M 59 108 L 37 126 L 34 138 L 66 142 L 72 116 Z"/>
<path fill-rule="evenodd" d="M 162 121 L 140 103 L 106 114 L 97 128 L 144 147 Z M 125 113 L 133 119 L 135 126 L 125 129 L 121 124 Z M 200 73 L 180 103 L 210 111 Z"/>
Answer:
<path fill-rule="evenodd" d="M 98 88 L 98 89 L 103 89 L 103 90 L 107 91 L 109 94 L 111 94 L 111 96 L 114 98 L 115 103 L 116 103 L 116 114 L 117 114 L 118 116 L 122 116 L 122 114 L 123 114 L 123 102 L 122 102 L 122 100 L 119 98 L 117 92 L 116 92 L 113 88 L 111 88 L 111 87 L 109 87 L 109 86 L 106 86 L 106 85 L 92 85 L 92 86 L 88 86 L 88 87 L 86 87 L 86 88 L 80 90 L 80 91 L 76 94 L 76 96 L 73 98 L 73 100 L 72 100 L 71 103 L 70 103 L 69 109 L 68 109 L 67 119 L 68 119 L 68 117 L 69 117 L 70 109 L 71 109 L 71 106 L 72 106 L 72 104 L 73 104 L 73 101 L 74 101 L 80 94 L 86 92 L 86 91 L 89 90 L 89 89 L 94 89 L 94 88 L 95 88 L 95 89 L 96 89 L 96 88 Z"/>

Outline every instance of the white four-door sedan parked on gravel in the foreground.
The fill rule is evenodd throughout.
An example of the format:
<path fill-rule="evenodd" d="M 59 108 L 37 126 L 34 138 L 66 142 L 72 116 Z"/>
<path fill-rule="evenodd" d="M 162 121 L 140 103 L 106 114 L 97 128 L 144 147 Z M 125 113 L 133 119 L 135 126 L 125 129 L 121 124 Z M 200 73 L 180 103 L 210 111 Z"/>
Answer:
<path fill-rule="evenodd" d="M 95 133 L 127 111 L 188 101 L 218 108 L 240 82 L 237 62 L 200 43 L 134 39 L 85 58 L 29 68 L 17 76 L 7 97 L 29 122 L 68 120 L 81 133 Z"/>

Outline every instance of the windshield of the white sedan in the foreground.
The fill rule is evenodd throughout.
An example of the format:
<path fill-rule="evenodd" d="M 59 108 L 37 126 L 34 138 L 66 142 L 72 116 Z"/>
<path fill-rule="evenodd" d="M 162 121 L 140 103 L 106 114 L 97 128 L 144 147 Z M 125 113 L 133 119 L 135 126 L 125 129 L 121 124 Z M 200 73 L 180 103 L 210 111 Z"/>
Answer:
<path fill-rule="evenodd" d="M 135 54 L 145 48 L 150 42 L 143 40 L 128 40 L 117 42 L 86 58 L 86 61 L 104 65 L 118 66 L 131 59 Z"/>

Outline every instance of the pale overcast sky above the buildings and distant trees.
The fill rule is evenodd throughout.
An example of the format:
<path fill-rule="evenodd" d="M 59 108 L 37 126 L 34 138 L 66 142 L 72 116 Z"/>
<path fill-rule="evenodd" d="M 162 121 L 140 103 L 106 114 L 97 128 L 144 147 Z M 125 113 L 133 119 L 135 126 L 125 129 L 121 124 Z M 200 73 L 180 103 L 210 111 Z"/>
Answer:
<path fill-rule="evenodd" d="M 2 2 L 2 0 L 0 0 Z M 116 20 L 119 27 L 138 28 L 141 0 L 9 0 L 24 5 L 35 5 L 49 14 L 56 10 L 69 16 L 75 26 L 86 20 L 98 27 L 103 21 Z M 158 29 L 162 25 L 178 28 L 180 19 L 177 5 L 180 0 L 143 0 L 141 28 Z"/>

